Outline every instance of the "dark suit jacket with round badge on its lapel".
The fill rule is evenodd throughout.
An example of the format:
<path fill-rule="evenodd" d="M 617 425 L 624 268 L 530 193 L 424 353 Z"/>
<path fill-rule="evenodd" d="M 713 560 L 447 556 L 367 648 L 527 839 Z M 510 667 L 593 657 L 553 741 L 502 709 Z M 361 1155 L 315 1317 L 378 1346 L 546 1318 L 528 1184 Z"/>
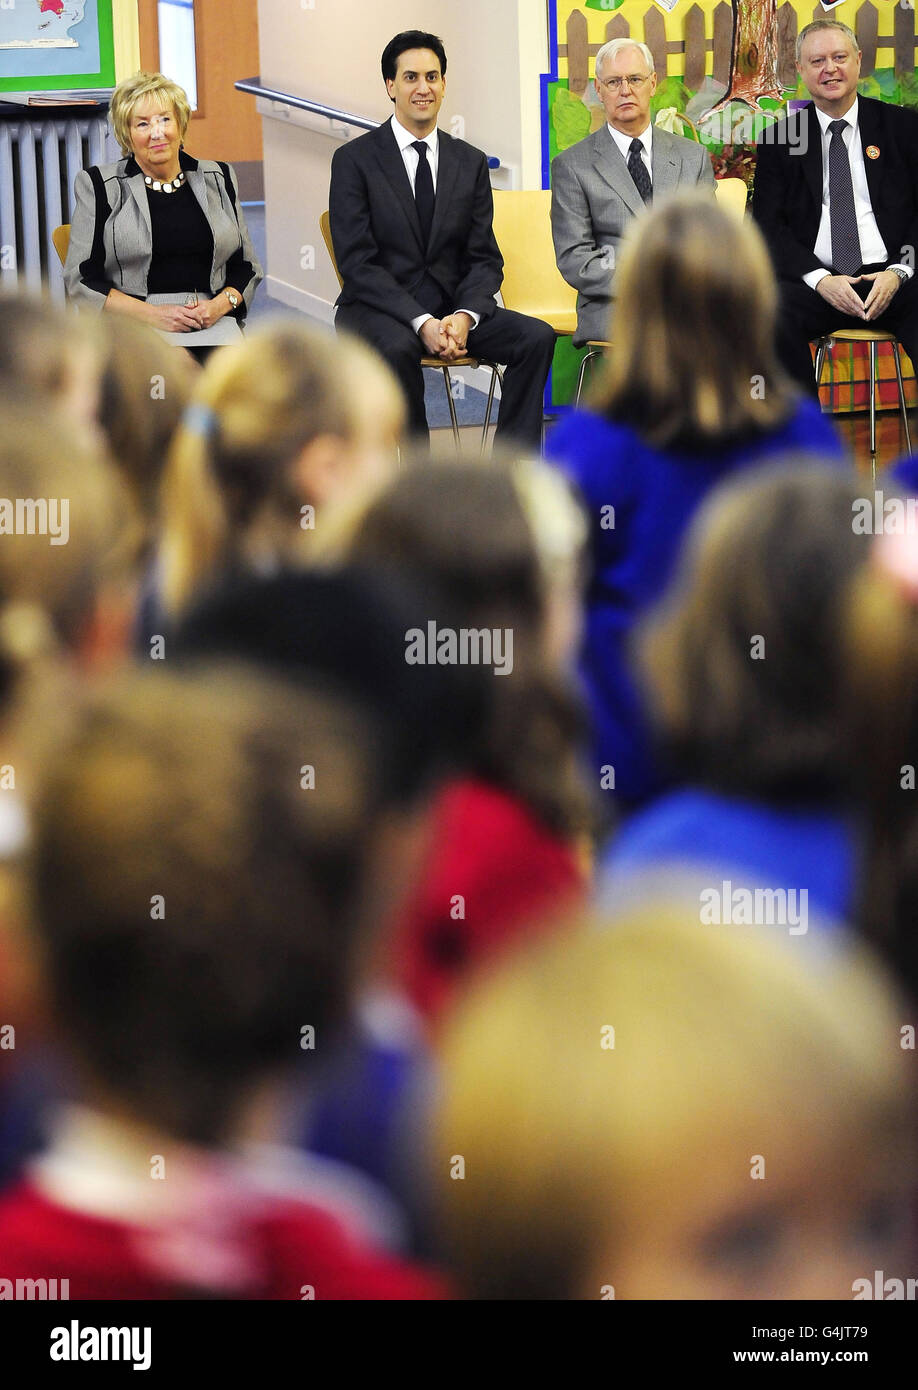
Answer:
<path fill-rule="evenodd" d="M 822 131 L 812 101 L 778 121 L 757 143 L 752 215 L 761 227 L 779 279 L 801 279 L 821 261 L 812 247 L 822 217 Z M 768 132 L 766 132 L 768 133 Z M 887 101 L 858 97 L 858 133 L 867 185 L 889 263 L 915 264 L 918 250 L 918 114 Z M 789 143 L 789 136 L 797 149 Z M 911 247 L 911 253 L 904 250 Z M 826 267 L 832 270 L 832 267 Z"/>

